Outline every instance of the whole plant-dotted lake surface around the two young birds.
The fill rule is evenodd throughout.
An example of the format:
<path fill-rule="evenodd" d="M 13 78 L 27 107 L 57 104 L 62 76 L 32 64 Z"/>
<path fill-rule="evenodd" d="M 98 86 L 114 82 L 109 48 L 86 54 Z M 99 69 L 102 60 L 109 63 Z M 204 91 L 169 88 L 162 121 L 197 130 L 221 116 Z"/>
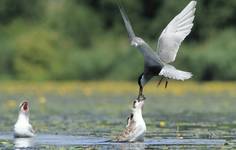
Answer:
<path fill-rule="evenodd" d="M 73 87 L 61 84 L 2 86 L 0 148 L 14 147 L 14 143 L 19 143 L 13 140 L 11 132 L 17 119 L 18 104 L 24 98 L 30 101 L 30 120 L 37 133 L 32 143 L 45 149 L 235 147 L 236 94 L 233 91 L 236 86 L 231 85 L 230 90 L 229 86 L 216 88 L 210 85 L 208 88 L 203 85 L 202 91 L 202 85 L 188 88 L 181 82 L 181 86 L 171 83 L 168 92 L 153 86 L 146 89 L 143 117 L 147 133 L 144 143 L 106 142 L 122 132 L 126 125 L 137 94 L 129 87 L 121 88 L 121 84 L 81 87 L 79 83 Z M 156 91 L 149 92 L 148 87 Z M 188 89 L 191 92 L 183 92 Z"/>

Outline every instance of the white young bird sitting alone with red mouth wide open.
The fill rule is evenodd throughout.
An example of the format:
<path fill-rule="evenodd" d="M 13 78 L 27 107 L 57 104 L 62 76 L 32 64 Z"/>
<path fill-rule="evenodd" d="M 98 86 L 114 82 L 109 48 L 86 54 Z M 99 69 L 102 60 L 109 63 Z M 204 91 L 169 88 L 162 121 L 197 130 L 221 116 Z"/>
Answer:
<path fill-rule="evenodd" d="M 20 104 L 20 111 L 18 115 L 18 119 L 14 126 L 14 137 L 15 138 L 25 138 L 25 137 L 33 137 L 34 130 L 29 123 L 29 102 L 24 101 Z"/>

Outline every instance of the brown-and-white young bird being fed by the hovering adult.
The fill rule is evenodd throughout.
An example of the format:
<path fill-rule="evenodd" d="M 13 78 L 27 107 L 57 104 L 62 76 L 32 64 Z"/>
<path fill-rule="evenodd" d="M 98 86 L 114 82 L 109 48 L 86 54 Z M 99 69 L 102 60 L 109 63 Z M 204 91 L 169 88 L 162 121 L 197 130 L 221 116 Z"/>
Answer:
<path fill-rule="evenodd" d="M 127 119 L 125 130 L 116 137 L 118 142 L 143 142 L 146 132 L 146 124 L 143 120 L 142 109 L 144 101 L 134 100 L 133 112 Z"/>

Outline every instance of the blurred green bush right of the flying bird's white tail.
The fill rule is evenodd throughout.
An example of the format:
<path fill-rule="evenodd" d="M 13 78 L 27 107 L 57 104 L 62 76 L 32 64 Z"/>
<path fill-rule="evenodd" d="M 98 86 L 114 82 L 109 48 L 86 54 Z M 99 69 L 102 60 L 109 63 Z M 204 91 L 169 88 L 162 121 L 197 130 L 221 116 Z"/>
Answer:
<path fill-rule="evenodd" d="M 202 44 L 188 45 L 177 63 L 191 70 L 198 80 L 236 80 L 234 39 L 236 30 L 228 29 Z"/>

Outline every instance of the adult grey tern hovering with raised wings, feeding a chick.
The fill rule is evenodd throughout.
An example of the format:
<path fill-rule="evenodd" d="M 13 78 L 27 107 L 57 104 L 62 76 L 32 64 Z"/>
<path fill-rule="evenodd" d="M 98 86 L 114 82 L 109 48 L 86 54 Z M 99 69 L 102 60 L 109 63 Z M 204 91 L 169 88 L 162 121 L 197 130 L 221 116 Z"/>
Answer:
<path fill-rule="evenodd" d="M 156 51 L 153 51 L 142 38 L 135 35 L 124 8 L 118 3 L 131 46 L 138 48 L 144 56 L 144 71 L 138 78 L 139 95 L 137 99 L 145 99 L 143 87 L 153 76 L 162 76 L 158 85 L 165 78 L 165 87 L 167 87 L 168 79 L 183 81 L 192 77 L 190 72 L 178 70 L 169 63 L 175 61 L 181 43 L 191 32 L 196 4 L 196 1 L 191 1 L 170 21 L 158 39 Z"/>

